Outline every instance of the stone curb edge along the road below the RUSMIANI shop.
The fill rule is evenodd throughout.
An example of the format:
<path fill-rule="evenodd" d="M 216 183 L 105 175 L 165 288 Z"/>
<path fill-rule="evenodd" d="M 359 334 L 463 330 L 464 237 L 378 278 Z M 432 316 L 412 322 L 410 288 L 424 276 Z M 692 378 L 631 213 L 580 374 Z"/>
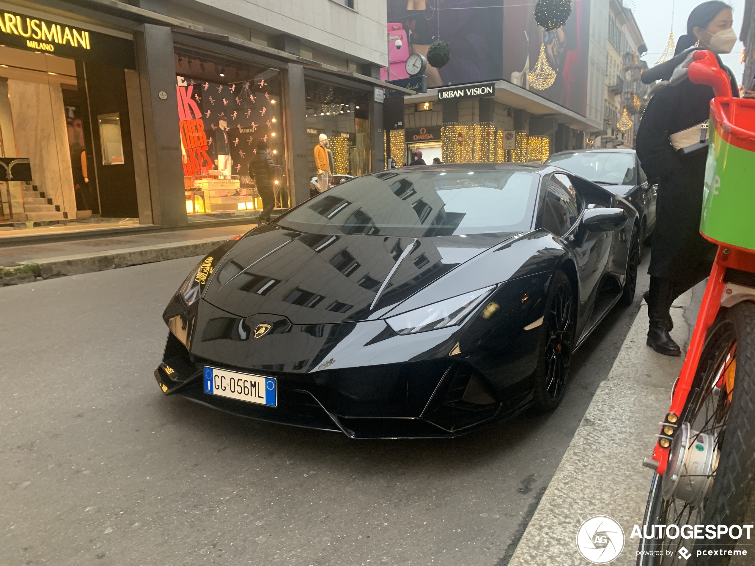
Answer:
<path fill-rule="evenodd" d="M 223 237 L 176 241 L 138 248 L 108 250 L 100 253 L 72 254 L 29 260 L 17 266 L 2 268 L 2 272 L 0 272 L 0 286 L 26 283 L 34 281 L 38 277 L 49 278 L 63 275 L 79 275 L 81 273 L 105 271 L 106 269 L 137 266 L 143 263 L 178 260 L 182 257 L 204 255 L 227 240 L 227 237 Z"/>

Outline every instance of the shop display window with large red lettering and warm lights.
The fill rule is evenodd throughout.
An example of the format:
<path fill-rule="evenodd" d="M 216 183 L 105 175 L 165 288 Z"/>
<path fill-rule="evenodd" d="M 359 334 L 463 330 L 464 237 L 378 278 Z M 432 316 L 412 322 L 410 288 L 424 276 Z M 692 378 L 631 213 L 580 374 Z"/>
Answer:
<path fill-rule="evenodd" d="M 180 48 L 175 57 L 189 219 L 287 208 L 279 70 Z"/>

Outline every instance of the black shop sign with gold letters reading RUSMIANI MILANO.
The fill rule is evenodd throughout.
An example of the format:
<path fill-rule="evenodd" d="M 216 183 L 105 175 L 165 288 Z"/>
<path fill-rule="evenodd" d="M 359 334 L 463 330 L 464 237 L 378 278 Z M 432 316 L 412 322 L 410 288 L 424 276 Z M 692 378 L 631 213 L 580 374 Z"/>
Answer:
<path fill-rule="evenodd" d="M 134 44 L 47 18 L 0 11 L 0 45 L 134 69 Z"/>

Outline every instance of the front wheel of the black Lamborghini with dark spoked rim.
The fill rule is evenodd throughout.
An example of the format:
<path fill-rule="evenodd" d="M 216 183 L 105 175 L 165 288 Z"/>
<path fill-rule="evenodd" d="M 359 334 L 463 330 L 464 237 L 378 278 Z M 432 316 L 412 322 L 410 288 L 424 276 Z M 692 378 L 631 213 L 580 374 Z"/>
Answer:
<path fill-rule="evenodd" d="M 556 271 L 548 291 L 535 369 L 533 401 L 540 411 L 554 411 L 563 399 L 575 339 L 575 318 L 572 283 L 564 272 Z"/>

